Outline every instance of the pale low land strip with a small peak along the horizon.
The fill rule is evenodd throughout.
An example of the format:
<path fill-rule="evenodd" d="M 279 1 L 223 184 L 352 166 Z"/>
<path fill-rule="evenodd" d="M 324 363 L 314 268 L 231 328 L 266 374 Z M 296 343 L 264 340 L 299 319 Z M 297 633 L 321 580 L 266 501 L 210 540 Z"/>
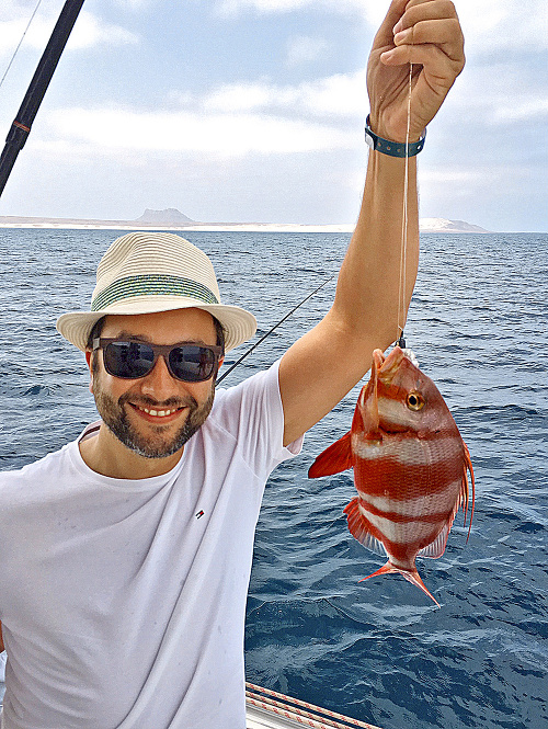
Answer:
<path fill-rule="evenodd" d="M 181 210 L 169 207 L 164 210 L 147 208 L 135 220 L 95 220 L 80 218 L 34 218 L 15 215 L 0 215 L 0 228 L 90 228 L 112 230 L 235 230 L 249 232 L 352 232 L 355 224 L 304 225 L 293 223 L 201 223 L 187 217 Z M 464 220 L 445 218 L 421 218 L 421 232 L 491 232 Z"/>

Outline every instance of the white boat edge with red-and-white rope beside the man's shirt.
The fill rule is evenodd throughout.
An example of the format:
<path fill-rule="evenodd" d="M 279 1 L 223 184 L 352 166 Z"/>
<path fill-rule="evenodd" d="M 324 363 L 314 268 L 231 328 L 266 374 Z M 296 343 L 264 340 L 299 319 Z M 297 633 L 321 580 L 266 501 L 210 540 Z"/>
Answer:
<path fill-rule="evenodd" d="M 248 729 L 289 729 L 311 727 L 311 729 L 380 729 L 373 724 L 323 709 L 320 706 L 262 688 L 252 683 L 246 684 L 246 706 Z"/>

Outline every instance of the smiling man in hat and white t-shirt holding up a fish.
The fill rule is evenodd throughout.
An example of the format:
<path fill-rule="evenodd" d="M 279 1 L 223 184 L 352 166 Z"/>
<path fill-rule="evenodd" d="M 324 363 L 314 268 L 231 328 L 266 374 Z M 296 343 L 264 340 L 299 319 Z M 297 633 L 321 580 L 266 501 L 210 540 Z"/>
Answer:
<path fill-rule="evenodd" d="M 463 66 L 450 2 L 393 0 L 369 58 L 376 150 L 335 300 L 266 373 L 214 399 L 224 351 L 255 322 L 220 303 L 208 259 L 178 236 L 119 238 L 91 312 L 60 317 L 102 420 L 1 479 L 5 729 L 243 729 L 262 490 L 399 334 L 418 263 L 413 155 Z"/>

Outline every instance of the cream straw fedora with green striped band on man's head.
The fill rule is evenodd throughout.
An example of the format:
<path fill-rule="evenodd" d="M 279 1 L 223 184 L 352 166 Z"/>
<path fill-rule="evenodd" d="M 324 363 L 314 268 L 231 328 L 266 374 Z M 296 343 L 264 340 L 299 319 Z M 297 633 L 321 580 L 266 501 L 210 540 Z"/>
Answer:
<path fill-rule="evenodd" d="M 225 328 L 225 349 L 238 346 L 256 331 L 255 317 L 239 306 L 221 304 L 207 255 L 170 232 L 129 232 L 117 238 L 101 259 L 91 311 L 71 311 L 57 330 L 85 351 L 93 324 L 107 314 L 153 314 L 198 308 Z"/>

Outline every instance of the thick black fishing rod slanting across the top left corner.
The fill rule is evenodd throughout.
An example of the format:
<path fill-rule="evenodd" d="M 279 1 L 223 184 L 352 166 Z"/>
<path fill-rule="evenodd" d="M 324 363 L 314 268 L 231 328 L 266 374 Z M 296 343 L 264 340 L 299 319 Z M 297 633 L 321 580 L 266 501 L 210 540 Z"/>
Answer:
<path fill-rule="evenodd" d="M 8 132 L 5 145 L 0 157 L 0 195 L 15 164 L 19 152 L 25 146 L 34 117 L 37 114 L 83 2 L 84 0 L 67 0 L 65 3 L 46 49 L 42 54 L 23 103 Z"/>

